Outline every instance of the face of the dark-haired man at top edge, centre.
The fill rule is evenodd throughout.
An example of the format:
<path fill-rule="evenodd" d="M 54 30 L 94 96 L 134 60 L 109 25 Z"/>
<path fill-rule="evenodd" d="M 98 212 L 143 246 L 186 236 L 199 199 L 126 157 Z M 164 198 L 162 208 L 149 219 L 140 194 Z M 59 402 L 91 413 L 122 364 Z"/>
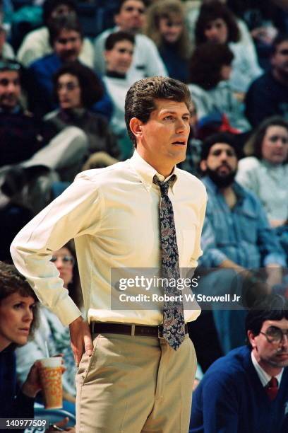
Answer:
<path fill-rule="evenodd" d="M 145 23 L 145 5 L 140 0 L 127 0 L 114 17 L 116 25 L 124 32 L 137 33 Z"/>

